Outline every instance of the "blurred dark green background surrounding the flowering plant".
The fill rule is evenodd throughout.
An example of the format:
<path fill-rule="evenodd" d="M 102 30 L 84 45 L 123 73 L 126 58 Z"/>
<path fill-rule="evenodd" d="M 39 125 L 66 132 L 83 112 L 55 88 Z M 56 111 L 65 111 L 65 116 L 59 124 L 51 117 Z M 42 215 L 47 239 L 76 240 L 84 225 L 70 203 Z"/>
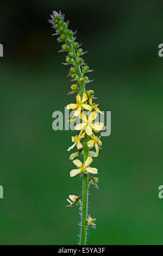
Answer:
<path fill-rule="evenodd" d="M 66 151 L 73 131 L 53 131 L 52 113 L 74 101 L 64 53 L 47 19 L 61 10 L 88 50 L 87 88 L 111 111 L 111 135 L 93 159 L 100 190 L 89 212 L 88 245 L 162 245 L 162 1 L 8 1 L 1 3 L 1 245 L 74 245 L 79 176 Z M 76 150 L 73 150 L 74 152 Z"/>

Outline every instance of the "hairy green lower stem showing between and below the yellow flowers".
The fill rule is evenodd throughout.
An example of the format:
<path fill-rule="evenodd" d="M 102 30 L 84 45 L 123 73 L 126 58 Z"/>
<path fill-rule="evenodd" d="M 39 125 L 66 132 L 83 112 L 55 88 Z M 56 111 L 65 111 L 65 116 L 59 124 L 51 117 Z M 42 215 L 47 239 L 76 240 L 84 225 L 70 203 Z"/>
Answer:
<path fill-rule="evenodd" d="M 89 157 L 89 147 L 87 142 L 89 141 L 89 136 L 85 133 L 85 141 L 84 141 L 84 162 Z M 85 218 L 87 216 L 87 197 L 88 197 L 88 178 L 89 174 L 85 173 L 83 175 L 83 196 L 82 196 L 82 227 L 80 234 L 80 245 L 86 245 L 86 231 L 87 225 Z"/>

